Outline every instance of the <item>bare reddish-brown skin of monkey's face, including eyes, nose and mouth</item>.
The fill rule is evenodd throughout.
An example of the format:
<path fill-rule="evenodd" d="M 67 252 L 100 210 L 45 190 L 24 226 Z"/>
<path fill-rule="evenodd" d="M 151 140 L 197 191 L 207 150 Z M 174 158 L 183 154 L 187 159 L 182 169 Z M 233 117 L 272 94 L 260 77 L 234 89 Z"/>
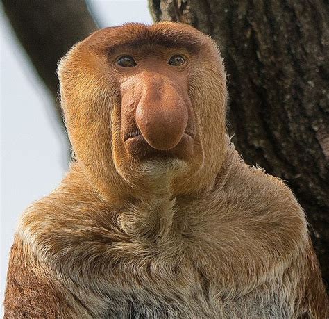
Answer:
<path fill-rule="evenodd" d="M 184 48 L 124 47 L 111 56 L 121 96 L 121 140 L 132 158 L 194 154 L 196 125 L 188 94 L 189 54 Z"/>

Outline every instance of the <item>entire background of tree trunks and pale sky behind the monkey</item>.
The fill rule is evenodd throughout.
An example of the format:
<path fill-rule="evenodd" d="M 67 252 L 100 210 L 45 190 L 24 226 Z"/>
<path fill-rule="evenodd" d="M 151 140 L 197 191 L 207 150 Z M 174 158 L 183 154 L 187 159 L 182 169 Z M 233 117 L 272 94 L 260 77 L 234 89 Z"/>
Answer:
<path fill-rule="evenodd" d="M 154 21 L 191 24 L 217 42 L 228 133 L 246 163 L 293 190 L 329 282 L 327 2 L 1 0 L 1 300 L 19 215 L 69 163 L 56 63 L 96 28 L 151 24 L 149 8 Z"/>

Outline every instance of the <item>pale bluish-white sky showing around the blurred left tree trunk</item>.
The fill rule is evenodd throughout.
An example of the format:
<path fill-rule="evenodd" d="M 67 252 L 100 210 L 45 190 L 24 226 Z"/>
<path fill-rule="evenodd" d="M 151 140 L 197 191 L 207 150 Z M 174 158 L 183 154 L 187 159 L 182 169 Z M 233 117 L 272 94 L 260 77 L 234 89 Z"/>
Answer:
<path fill-rule="evenodd" d="M 88 3 L 100 27 L 152 22 L 146 0 L 90 0 Z M 2 7 L 0 26 L 2 313 L 8 254 L 17 220 L 32 202 L 56 188 L 67 169 L 67 149 L 49 92 L 35 75 Z"/>

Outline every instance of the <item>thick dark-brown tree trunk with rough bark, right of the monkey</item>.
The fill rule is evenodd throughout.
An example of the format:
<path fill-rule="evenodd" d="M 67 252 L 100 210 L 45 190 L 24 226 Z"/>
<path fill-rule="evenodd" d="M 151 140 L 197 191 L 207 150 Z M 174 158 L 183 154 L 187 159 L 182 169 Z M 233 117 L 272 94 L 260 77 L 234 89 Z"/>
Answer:
<path fill-rule="evenodd" d="M 149 0 L 153 18 L 217 41 L 228 72 L 228 129 L 246 162 L 287 181 L 310 221 L 329 282 L 327 1 Z"/>

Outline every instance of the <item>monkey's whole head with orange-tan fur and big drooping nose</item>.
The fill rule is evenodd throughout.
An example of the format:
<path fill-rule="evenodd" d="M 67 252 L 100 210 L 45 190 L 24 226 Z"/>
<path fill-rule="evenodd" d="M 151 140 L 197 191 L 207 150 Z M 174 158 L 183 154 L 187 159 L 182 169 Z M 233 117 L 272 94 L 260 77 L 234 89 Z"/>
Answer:
<path fill-rule="evenodd" d="M 192 26 L 104 28 L 76 44 L 58 74 L 76 161 L 101 193 L 136 195 L 159 174 L 186 193 L 218 172 L 226 74 L 214 41 Z"/>

